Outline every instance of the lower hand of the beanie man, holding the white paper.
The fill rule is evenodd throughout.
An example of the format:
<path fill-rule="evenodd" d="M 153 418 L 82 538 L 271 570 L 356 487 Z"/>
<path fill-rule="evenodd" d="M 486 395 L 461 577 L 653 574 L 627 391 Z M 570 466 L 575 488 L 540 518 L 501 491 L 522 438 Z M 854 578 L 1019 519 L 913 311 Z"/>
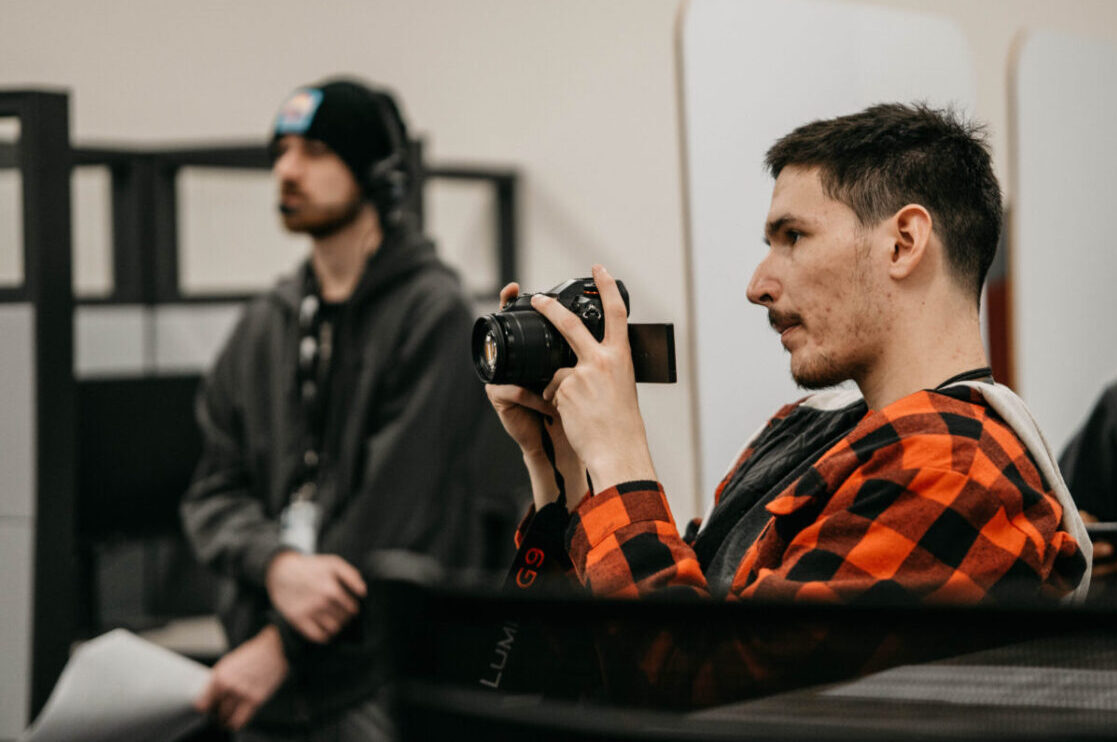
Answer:
<path fill-rule="evenodd" d="M 239 730 L 275 694 L 289 669 L 278 629 L 267 626 L 213 665 L 194 708 Z"/>

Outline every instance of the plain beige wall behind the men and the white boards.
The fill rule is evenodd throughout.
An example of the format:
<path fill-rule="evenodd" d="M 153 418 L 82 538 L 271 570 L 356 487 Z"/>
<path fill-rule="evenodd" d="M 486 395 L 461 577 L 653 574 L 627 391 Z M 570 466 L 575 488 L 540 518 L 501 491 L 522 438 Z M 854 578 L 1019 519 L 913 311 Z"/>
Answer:
<path fill-rule="evenodd" d="M 978 70 L 976 111 L 991 124 L 1002 179 L 1006 65 L 1016 30 L 1117 38 L 1117 3 L 1102 0 L 868 1 L 942 13 L 961 26 Z M 674 321 L 686 348 L 678 6 L 7 0 L 0 86 L 69 87 L 77 142 L 168 143 L 259 136 L 293 86 L 331 73 L 392 85 L 412 127 L 428 134 L 432 159 L 516 164 L 525 173 L 527 287 L 604 263 L 628 283 L 633 317 Z M 787 37 L 787 54 L 809 53 L 791 31 L 773 29 Z M 641 389 L 652 453 L 680 520 L 698 502 L 690 372 L 680 354 L 682 383 Z"/>

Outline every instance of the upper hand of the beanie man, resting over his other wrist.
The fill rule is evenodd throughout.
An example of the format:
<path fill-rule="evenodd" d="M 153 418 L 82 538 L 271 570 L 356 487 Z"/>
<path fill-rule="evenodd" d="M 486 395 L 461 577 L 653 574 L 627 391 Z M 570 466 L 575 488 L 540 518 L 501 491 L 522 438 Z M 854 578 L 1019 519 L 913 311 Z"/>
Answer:
<path fill-rule="evenodd" d="M 276 610 L 317 644 L 337 636 L 367 594 L 361 573 L 335 554 L 280 551 L 268 564 L 266 583 Z"/>

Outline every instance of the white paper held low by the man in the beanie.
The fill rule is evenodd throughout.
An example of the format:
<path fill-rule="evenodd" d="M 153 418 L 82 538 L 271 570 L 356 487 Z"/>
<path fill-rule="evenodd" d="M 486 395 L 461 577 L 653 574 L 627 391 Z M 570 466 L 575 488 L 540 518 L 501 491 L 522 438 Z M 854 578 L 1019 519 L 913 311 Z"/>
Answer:
<path fill-rule="evenodd" d="M 168 742 L 206 724 L 209 668 L 116 629 L 78 647 L 20 742 Z"/>

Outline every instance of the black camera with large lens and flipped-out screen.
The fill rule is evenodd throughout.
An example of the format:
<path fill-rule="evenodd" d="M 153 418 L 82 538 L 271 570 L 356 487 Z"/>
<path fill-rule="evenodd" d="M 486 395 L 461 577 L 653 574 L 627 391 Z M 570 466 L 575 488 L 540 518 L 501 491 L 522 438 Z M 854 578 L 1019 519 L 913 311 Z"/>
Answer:
<path fill-rule="evenodd" d="M 620 280 L 617 288 L 628 312 L 628 289 Z M 604 337 L 605 313 L 593 278 L 571 278 L 543 295 L 574 313 L 598 342 Z M 675 326 L 629 324 L 628 329 L 636 380 L 675 382 Z M 521 294 L 499 312 L 474 323 L 472 354 L 481 381 L 535 391 L 542 391 L 555 371 L 577 362 L 562 334 L 532 307 L 532 294 Z"/>

